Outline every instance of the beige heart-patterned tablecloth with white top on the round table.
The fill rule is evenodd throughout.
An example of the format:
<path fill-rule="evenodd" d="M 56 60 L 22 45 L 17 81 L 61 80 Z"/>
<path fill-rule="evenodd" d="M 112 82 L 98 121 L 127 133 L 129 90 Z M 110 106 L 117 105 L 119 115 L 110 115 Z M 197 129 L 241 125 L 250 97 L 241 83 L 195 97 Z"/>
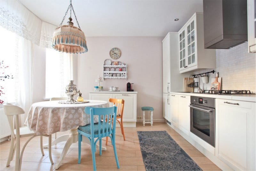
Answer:
<path fill-rule="evenodd" d="M 107 101 L 89 100 L 82 104 L 60 104 L 59 101 L 38 102 L 31 105 L 25 124 L 36 135 L 63 132 L 79 125 L 90 123 L 90 115 L 84 113 L 84 108 L 108 107 Z M 98 122 L 98 118 L 94 118 Z"/>

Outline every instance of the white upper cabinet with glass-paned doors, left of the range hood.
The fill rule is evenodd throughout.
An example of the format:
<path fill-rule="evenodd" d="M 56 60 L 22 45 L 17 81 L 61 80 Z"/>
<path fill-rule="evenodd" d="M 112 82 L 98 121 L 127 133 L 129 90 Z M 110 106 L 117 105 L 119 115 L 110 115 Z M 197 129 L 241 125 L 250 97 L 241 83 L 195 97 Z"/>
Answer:
<path fill-rule="evenodd" d="M 180 73 L 216 68 L 216 50 L 204 49 L 203 13 L 196 12 L 179 31 Z"/>

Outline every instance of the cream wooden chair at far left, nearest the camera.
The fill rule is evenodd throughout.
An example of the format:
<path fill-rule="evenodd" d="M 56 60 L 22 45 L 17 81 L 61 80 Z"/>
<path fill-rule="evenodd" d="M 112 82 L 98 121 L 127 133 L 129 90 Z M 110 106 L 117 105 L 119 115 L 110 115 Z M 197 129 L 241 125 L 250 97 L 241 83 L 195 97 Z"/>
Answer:
<path fill-rule="evenodd" d="M 15 170 L 20 170 L 24 149 L 25 149 L 26 145 L 28 144 L 28 142 L 36 136 L 40 136 L 40 148 L 41 148 L 41 152 L 42 152 L 43 156 L 44 156 L 44 151 L 43 151 L 43 145 L 42 145 L 43 144 L 42 136 L 49 137 L 49 144 L 50 144 L 49 145 L 49 158 L 50 158 L 51 163 L 53 164 L 52 152 L 51 152 L 51 150 L 52 150 L 51 149 L 52 135 L 36 135 L 36 133 L 34 131 L 29 130 L 29 128 L 27 126 L 20 128 L 19 115 L 24 114 L 25 111 L 19 106 L 6 103 L 6 104 L 4 104 L 4 113 L 8 118 L 8 122 L 9 122 L 9 125 L 11 128 L 11 146 L 10 146 L 10 152 L 9 152 L 6 166 L 10 166 L 10 162 L 13 159 L 14 152 L 16 149 Z M 15 118 L 16 129 L 14 129 L 13 116 Z M 20 153 L 20 138 L 28 137 L 28 136 L 31 136 L 31 137 L 24 144 L 24 146 L 21 150 L 21 153 Z M 14 144 L 15 139 L 16 139 L 16 142 Z"/>

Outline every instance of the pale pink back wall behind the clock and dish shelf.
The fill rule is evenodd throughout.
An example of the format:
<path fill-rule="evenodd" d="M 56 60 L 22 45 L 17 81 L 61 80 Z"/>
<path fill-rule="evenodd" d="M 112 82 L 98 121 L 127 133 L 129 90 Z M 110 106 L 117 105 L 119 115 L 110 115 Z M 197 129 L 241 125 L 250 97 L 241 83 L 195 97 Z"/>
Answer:
<path fill-rule="evenodd" d="M 88 52 L 78 55 L 78 89 L 83 97 L 88 99 L 89 92 L 94 91 L 98 75 L 103 78 L 103 63 L 105 59 L 120 61 L 127 64 L 127 80 L 105 79 L 100 85 L 105 91 L 108 87 L 119 87 L 126 91 L 126 83 L 134 83 L 132 89 L 137 91 L 137 116 L 142 116 L 142 106 L 154 107 L 154 120 L 162 120 L 163 113 L 163 37 L 87 37 Z M 110 58 L 109 51 L 117 47 L 121 57 Z"/>

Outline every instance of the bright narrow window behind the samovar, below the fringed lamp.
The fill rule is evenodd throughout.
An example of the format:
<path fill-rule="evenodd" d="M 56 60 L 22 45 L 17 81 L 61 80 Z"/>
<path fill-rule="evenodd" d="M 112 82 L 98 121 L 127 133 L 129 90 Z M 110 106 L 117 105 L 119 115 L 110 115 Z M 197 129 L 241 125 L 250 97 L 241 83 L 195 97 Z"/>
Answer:
<path fill-rule="evenodd" d="M 64 97 L 72 80 L 72 54 L 46 48 L 45 98 Z"/>

